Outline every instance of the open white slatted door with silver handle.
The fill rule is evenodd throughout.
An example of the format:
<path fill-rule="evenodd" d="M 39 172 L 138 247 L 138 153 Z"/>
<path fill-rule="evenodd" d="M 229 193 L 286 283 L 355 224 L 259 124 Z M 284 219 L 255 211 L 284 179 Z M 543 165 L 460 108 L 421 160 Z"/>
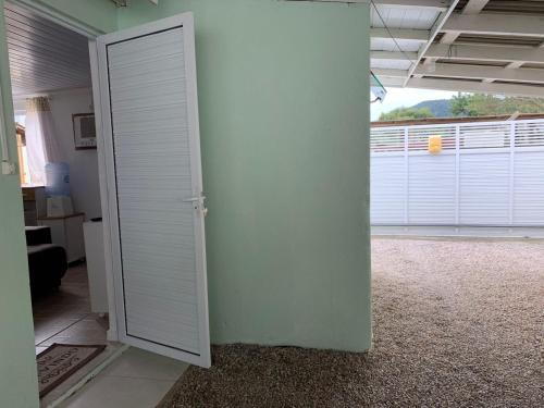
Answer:
<path fill-rule="evenodd" d="M 97 48 L 118 335 L 209 367 L 193 15 Z"/>

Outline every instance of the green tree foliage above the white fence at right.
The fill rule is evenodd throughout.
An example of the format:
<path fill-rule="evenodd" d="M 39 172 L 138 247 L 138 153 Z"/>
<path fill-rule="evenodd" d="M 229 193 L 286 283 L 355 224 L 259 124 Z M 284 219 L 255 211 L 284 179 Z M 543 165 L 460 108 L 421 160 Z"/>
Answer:
<path fill-rule="evenodd" d="M 458 94 L 452 98 L 454 116 L 489 116 L 544 112 L 543 98 L 505 97 L 484 94 Z"/>

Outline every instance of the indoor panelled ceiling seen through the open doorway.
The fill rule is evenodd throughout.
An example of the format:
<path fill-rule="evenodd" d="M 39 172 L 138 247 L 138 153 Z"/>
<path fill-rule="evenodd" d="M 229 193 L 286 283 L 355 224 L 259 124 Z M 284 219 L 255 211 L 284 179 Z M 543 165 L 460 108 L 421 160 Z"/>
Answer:
<path fill-rule="evenodd" d="M 86 37 L 8 2 L 4 13 L 14 96 L 90 86 Z"/>

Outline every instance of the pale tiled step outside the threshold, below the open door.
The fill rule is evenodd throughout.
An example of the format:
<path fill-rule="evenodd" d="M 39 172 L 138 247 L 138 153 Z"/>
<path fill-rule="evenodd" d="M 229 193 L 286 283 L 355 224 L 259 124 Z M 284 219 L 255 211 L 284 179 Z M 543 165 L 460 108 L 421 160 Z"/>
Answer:
<path fill-rule="evenodd" d="M 60 407 L 151 408 L 186 368 L 181 361 L 129 348 Z"/>

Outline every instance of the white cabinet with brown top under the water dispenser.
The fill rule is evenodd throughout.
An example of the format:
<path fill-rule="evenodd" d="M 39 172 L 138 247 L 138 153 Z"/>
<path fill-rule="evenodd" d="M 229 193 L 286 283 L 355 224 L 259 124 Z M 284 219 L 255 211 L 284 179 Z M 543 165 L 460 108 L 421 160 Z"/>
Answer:
<path fill-rule="evenodd" d="M 38 219 L 38 225 L 47 225 L 51 228 L 51 240 L 66 250 L 69 262 L 85 258 L 85 245 L 83 242 L 83 221 L 85 214 L 78 212 L 63 217 L 42 217 Z"/>

